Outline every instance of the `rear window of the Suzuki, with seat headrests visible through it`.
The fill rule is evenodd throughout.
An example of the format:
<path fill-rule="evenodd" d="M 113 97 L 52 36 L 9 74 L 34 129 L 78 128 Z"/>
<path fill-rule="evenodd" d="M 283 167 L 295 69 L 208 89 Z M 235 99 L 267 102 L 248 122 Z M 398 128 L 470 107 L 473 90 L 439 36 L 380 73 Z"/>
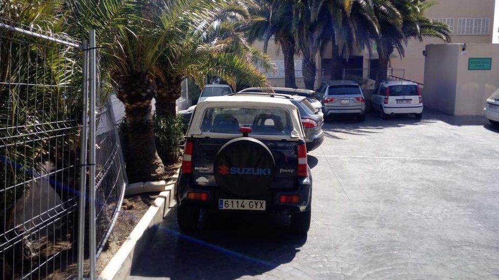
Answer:
<path fill-rule="evenodd" d="M 201 123 L 201 132 L 240 134 L 239 128 L 250 127 L 253 135 L 290 135 L 291 116 L 283 109 L 209 108 Z"/>

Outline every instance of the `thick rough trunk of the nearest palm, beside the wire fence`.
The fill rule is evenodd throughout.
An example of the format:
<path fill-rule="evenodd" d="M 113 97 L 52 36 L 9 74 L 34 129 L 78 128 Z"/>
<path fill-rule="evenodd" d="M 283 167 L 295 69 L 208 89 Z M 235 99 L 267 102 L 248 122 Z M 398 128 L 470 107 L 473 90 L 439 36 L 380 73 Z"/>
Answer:
<path fill-rule="evenodd" d="M 157 155 L 151 120 L 155 89 L 149 73 L 132 73 L 118 79 L 117 97 L 125 105 L 128 126 L 126 168 L 130 183 L 163 179 L 164 166 Z"/>

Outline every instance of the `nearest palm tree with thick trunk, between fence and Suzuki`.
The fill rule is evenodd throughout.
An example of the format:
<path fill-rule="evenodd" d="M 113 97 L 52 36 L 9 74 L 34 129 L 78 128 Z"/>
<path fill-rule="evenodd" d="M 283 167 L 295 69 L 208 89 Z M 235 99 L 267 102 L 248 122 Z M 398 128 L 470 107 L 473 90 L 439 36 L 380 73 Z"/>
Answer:
<path fill-rule="evenodd" d="M 130 182 L 160 180 L 163 162 L 158 157 L 151 123 L 151 100 L 156 93 L 156 62 L 163 52 L 165 34 L 146 20 L 151 4 L 134 0 L 71 0 L 69 23 L 83 37 L 95 29 L 100 63 L 125 106 L 128 126 Z M 105 79 L 106 80 L 106 79 Z"/>

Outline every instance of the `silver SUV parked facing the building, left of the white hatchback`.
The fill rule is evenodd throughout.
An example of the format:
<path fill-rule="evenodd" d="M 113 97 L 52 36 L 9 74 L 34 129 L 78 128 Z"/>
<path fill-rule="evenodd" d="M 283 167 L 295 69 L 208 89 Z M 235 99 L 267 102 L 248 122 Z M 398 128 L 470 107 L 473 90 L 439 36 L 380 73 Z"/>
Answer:
<path fill-rule="evenodd" d="M 353 81 L 330 81 L 325 88 L 324 114 L 357 114 L 366 119 L 366 100 L 360 86 Z"/>

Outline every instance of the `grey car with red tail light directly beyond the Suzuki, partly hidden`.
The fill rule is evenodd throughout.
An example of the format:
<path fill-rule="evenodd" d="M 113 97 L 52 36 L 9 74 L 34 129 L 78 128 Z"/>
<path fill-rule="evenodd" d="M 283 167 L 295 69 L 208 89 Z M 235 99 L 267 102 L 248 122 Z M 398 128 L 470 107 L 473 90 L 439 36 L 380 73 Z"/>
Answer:
<path fill-rule="evenodd" d="M 287 98 L 291 103 L 298 108 L 300 118 L 305 131 L 305 142 L 307 143 L 307 151 L 314 150 L 321 146 L 324 141 L 324 114 L 314 108 L 308 98 L 304 96 L 288 95 L 280 93 L 262 93 L 262 92 L 237 92 L 232 95 L 260 95 L 271 96 L 276 98 Z"/>

